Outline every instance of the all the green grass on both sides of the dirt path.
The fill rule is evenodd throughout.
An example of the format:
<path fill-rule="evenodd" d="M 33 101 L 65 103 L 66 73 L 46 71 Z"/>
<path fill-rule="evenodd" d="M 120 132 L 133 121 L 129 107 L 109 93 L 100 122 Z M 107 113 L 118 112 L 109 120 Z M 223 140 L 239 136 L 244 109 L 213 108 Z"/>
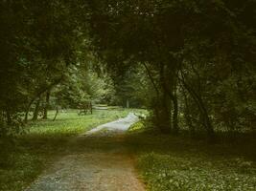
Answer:
<path fill-rule="evenodd" d="M 0 140 L 0 190 L 23 190 L 48 163 L 66 154 L 70 137 L 125 117 L 130 111 L 100 110 L 93 115 L 78 116 L 77 111 L 69 110 L 60 113 L 56 121 L 30 122 L 24 133 L 12 141 Z M 54 114 L 50 112 L 49 118 Z M 207 144 L 200 139 L 146 130 L 143 122 L 134 124 L 124 144 L 135 154 L 148 190 L 256 190 L 255 138 Z"/>

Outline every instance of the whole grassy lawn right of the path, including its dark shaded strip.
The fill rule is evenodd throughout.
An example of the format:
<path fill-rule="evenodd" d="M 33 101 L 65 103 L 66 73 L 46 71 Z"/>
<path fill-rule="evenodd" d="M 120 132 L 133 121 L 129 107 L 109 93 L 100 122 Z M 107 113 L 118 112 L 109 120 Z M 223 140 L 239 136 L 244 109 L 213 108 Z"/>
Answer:
<path fill-rule="evenodd" d="M 143 132 L 140 126 L 133 126 L 127 144 L 149 190 L 256 190 L 255 138 L 210 145 Z"/>

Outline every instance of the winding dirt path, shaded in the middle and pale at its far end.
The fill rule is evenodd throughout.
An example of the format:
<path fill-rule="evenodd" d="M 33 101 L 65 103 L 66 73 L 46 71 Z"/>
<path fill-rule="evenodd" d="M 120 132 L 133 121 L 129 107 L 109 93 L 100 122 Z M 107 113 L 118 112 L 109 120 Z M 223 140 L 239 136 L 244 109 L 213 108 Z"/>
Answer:
<path fill-rule="evenodd" d="M 45 170 L 27 191 L 143 191 L 122 135 L 137 120 L 129 114 L 73 138 L 67 155 Z M 107 131 L 101 131 L 104 129 Z"/>

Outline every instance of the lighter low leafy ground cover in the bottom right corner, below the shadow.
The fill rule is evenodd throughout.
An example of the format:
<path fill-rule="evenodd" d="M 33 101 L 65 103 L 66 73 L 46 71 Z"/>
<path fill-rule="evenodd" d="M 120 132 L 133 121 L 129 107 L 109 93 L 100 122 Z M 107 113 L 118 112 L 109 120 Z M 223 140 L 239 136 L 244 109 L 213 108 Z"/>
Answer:
<path fill-rule="evenodd" d="M 180 149 L 183 149 L 180 147 Z M 152 191 L 255 190 L 255 164 L 244 159 L 147 154 L 139 159 Z"/>

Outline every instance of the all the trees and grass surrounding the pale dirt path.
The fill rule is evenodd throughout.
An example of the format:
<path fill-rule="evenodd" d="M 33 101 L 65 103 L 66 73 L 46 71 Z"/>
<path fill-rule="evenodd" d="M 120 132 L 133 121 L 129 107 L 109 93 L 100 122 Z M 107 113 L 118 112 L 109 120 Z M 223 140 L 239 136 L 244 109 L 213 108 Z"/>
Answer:
<path fill-rule="evenodd" d="M 1 0 L 0 26 L 0 190 L 128 113 L 147 190 L 256 189 L 255 0 Z"/>

